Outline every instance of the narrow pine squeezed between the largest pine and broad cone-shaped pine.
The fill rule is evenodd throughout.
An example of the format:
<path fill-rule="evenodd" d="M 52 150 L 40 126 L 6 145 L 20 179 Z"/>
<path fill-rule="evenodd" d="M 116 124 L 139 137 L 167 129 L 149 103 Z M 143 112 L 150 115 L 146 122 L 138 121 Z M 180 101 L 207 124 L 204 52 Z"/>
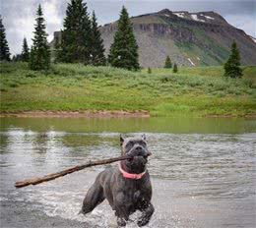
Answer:
<path fill-rule="evenodd" d="M 103 40 L 100 36 L 100 31 L 97 28 L 96 14 L 93 12 L 92 17 L 92 49 L 91 49 L 91 63 L 95 66 L 105 65 Z"/>

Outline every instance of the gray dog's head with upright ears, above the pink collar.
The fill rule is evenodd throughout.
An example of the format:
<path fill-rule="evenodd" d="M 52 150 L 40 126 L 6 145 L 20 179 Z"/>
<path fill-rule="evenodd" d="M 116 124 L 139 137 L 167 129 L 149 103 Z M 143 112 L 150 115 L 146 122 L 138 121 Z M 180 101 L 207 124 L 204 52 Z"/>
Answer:
<path fill-rule="evenodd" d="M 148 150 L 146 136 L 138 138 L 124 138 L 120 137 L 120 144 L 122 148 L 122 155 L 131 156 L 126 159 L 125 166 L 133 173 L 142 173 L 145 171 L 148 162 L 148 156 L 151 153 Z"/>

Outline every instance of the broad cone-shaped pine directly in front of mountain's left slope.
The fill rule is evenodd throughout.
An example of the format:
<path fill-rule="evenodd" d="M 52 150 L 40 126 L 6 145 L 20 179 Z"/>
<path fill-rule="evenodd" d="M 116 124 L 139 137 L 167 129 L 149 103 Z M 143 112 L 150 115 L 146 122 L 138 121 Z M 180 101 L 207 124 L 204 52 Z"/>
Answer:
<path fill-rule="evenodd" d="M 113 67 L 138 70 L 138 45 L 133 33 L 133 27 L 125 7 L 122 8 L 118 20 L 117 31 L 111 44 L 108 61 Z"/>

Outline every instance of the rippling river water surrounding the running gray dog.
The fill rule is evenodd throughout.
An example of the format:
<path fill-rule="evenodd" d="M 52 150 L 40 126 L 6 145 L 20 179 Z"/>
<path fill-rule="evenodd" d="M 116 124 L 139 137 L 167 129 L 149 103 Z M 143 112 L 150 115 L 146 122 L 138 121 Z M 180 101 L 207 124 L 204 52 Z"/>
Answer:
<path fill-rule="evenodd" d="M 117 156 L 120 133 L 146 133 L 154 154 L 148 169 L 156 212 L 146 227 L 256 226 L 255 120 L 0 120 L 1 227 L 116 227 L 106 201 L 86 217 L 78 215 L 104 166 L 24 189 L 14 183 Z M 127 227 L 137 226 L 131 221 Z"/>

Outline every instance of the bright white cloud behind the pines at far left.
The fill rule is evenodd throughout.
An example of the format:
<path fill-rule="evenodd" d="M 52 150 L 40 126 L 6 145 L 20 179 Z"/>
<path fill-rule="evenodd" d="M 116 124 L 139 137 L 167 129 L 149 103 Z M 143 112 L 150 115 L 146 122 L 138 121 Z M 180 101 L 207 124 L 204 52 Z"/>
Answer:
<path fill-rule="evenodd" d="M 46 32 L 49 34 L 48 41 L 50 41 L 53 38 L 53 32 L 61 28 L 64 15 L 62 5 L 66 5 L 65 1 L 14 0 L 4 1 L 1 4 L 1 15 L 12 54 L 21 53 L 24 37 L 27 38 L 29 45 L 32 45 L 32 31 L 39 3 L 46 23 Z"/>

